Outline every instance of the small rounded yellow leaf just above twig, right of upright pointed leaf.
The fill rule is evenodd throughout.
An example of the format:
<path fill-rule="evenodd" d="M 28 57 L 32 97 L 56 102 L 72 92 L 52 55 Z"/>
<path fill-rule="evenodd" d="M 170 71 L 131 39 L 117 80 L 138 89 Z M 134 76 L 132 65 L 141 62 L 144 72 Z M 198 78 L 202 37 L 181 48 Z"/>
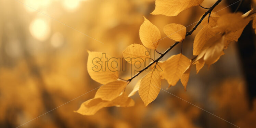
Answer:
<path fill-rule="evenodd" d="M 182 41 L 185 39 L 187 29 L 180 24 L 167 24 L 164 26 L 164 33 L 175 41 Z"/>

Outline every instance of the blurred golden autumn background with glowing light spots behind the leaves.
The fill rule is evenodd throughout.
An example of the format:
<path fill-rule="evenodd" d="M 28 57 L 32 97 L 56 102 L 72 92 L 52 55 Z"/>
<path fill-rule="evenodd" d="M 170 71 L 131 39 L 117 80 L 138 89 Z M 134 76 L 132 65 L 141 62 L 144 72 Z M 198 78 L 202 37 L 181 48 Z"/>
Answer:
<path fill-rule="evenodd" d="M 215 2 L 205 0 L 202 6 L 210 7 Z M 222 1 L 214 11 L 219 15 L 232 12 L 238 3 L 225 8 L 232 2 L 236 1 Z M 250 7 L 249 4 L 245 6 Z M 237 42 L 231 43 L 224 51 L 225 55 L 209 69 L 204 66 L 196 74 L 193 66 L 187 91 L 180 81 L 167 90 L 232 124 L 162 90 L 147 107 L 137 93 L 132 97 L 135 100 L 133 107 L 103 108 L 93 116 L 73 112 L 82 102 L 93 98 L 96 90 L 80 95 L 100 86 L 87 73 L 87 50 L 122 57 L 122 51 L 127 46 L 132 43 L 141 44 L 139 27 L 144 21 L 142 15 L 159 28 L 163 38 L 166 36 L 163 33 L 166 24 L 188 26 L 198 21 L 207 11 L 193 7 L 178 16 L 168 17 L 151 15 L 154 8 L 154 0 L 1 0 L 0 127 L 235 127 L 232 124 L 256 127 L 255 91 L 248 91 L 250 81 L 244 68 L 245 61 L 241 57 L 243 52 Z M 183 42 L 183 54 L 189 58 L 193 57 L 193 39 L 201 28 L 199 26 Z M 248 29 L 248 33 L 253 31 L 251 26 Z M 251 33 L 249 38 L 254 35 Z M 255 41 L 251 42 L 255 46 Z M 173 40 L 165 38 L 160 41 L 157 50 L 164 52 L 173 43 Z M 164 60 L 180 53 L 180 47 L 179 44 L 172 49 Z M 121 78 L 129 76 L 130 72 L 120 73 Z M 142 77 L 139 75 L 131 81 L 126 91 L 131 91 Z M 167 82 L 162 81 L 162 88 L 167 87 Z M 74 99 L 76 97 L 79 98 Z"/>

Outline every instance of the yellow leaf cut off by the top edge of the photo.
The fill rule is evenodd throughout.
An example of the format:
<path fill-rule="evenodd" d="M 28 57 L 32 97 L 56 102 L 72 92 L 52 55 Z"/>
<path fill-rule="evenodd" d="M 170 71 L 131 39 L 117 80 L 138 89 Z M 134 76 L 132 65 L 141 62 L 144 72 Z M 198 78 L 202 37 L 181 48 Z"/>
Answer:
<path fill-rule="evenodd" d="M 153 15 L 176 16 L 181 11 L 201 4 L 204 0 L 156 0 Z"/>

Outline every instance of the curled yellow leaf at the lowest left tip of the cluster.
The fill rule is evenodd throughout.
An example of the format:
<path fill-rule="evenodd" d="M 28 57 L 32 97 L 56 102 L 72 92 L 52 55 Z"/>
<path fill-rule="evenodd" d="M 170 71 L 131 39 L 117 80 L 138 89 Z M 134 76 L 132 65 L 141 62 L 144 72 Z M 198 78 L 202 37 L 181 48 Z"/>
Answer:
<path fill-rule="evenodd" d="M 97 111 L 105 107 L 107 104 L 108 101 L 103 101 L 100 98 L 90 99 L 82 103 L 80 108 L 75 112 L 82 115 L 94 115 Z"/>

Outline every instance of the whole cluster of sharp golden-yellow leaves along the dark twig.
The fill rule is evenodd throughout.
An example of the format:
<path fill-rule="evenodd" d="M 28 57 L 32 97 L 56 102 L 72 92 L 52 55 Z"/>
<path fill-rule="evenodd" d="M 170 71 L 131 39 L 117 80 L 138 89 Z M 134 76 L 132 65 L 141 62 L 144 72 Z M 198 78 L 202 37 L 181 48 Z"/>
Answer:
<path fill-rule="evenodd" d="M 178 3 L 175 0 L 156 0 L 156 8 L 151 14 L 176 16 L 185 9 L 200 5 L 203 0 L 183 0 L 180 2 Z M 161 80 L 163 79 L 167 80 L 169 87 L 175 86 L 180 80 L 186 89 L 191 66 L 195 65 L 198 73 L 204 64 L 209 67 L 218 61 L 220 56 L 224 54 L 223 50 L 228 48 L 231 41 L 238 40 L 244 27 L 254 18 L 253 10 L 245 14 L 228 13 L 221 16 L 212 11 L 211 13 L 212 15 L 208 16 L 208 18 L 201 18 L 202 21 L 200 23 L 203 28 L 196 34 L 194 39 L 193 55 L 196 56 L 194 59 L 188 59 L 188 57 L 180 53 L 170 56 L 166 61 L 158 62 L 158 60 L 155 60 L 151 62 L 146 68 L 151 68 L 152 70 L 137 82 L 128 95 L 125 92 L 125 88 L 134 77 L 126 82 L 122 81 L 118 79 L 117 70 L 104 67 L 106 65 L 102 65 L 102 69 L 105 69 L 104 71 L 93 71 L 93 58 L 101 58 L 102 53 L 88 51 L 88 73 L 93 80 L 103 85 L 98 89 L 95 97 L 82 103 L 76 112 L 82 115 L 93 115 L 103 107 L 133 106 L 135 103 L 130 97 L 137 91 L 145 106 L 147 106 L 156 99 L 161 90 Z M 253 28 L 256 28 L 255 19 Z M 187 35 L 185 26 L 174 23 L 167 24 L 163 31 L 170 39 L 178 42 L 182 42 Z M 139 36 L 143 45 L 131 44 L 123 51 L 125 60 L 133 65 L 136 61 L 131 62 L 130 58 L 140 58 L 137 61 L 145 61 L 146 58 L 149 58 L 148 55 L 145 55 L 146 48 L 156 50 L 159 40 L 161 40 L 159 29 L 145 17 L 140 26 Z M 160 54 L 160 57 L 163 57 L 163 54 Z M 106 55 L 106 57 L 111 58 L 109 55 Z M 101 61 L 105 62 L 105 60 Z M 158 71 L 156 64 L 163 69 L 162 72 Z"/>

